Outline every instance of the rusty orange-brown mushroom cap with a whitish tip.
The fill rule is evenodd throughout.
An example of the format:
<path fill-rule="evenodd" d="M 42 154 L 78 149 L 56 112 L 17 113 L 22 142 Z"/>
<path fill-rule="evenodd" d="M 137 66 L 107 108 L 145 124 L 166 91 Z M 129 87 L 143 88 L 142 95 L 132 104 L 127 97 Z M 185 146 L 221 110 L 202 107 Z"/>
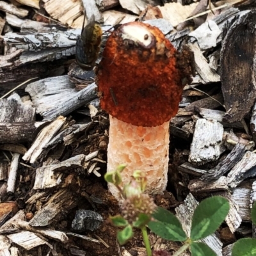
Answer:
<path fill-rule="evenodd" d="M 183 89 L 175 52 L 149 24 L 129 22 L 113 31 L 97 76 L 101 108 L 132 125 L 168 122 L 178 111 Z"/>

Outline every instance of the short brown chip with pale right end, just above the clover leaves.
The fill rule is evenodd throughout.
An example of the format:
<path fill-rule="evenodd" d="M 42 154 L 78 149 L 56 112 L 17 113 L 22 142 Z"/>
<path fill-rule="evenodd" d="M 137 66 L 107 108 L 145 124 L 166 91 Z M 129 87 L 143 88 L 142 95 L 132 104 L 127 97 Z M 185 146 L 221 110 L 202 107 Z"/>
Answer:
<path fill-rule="evenodd" d="M 221 176 L 220 179 L 212 182 L 205 182 L 200 179 L 190 180 L 188 188 L 191 193 L 204 193 L 219 190 L 228 190 L 227 178 L 225 176 Z"/>

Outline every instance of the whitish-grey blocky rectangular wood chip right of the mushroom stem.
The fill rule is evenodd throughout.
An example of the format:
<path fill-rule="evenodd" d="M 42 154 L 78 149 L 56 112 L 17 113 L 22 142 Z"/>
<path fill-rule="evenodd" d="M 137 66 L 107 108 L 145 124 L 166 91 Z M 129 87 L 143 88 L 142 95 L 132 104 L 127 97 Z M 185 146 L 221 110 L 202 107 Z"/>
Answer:
<path fill-rule="evenodd" d="M 215 120 L 199 119 L 191 143 L 189 162 L 204 164 L 220 157 L 223 126 Z"/>

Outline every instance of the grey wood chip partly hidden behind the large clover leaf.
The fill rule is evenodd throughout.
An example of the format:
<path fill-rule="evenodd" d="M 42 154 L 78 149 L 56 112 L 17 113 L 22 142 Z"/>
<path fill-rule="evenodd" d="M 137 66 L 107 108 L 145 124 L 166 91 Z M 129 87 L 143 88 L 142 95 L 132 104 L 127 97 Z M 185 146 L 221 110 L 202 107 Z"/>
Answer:
<path fill-rule="evenodd" d="M 184 204 L 180 205 L 179 207 L 175 208 L 175 212 L 177 213 L 177 218 L 180 220 L 183 230 L 189 236 L 190 228 L 191 228 L 191 221 L 193 213 L 198 205 L 194 196 L 189 193 L 189 195 L 184 200 Z M 205 237 L 204 239 L 199 240 L 202 243 L 207 244 L 211 249 L 218 255 L 222 256 L 222 243 L 220 239 L 216 236 L 216 234 L 212 234 L 210 236 Z"/>

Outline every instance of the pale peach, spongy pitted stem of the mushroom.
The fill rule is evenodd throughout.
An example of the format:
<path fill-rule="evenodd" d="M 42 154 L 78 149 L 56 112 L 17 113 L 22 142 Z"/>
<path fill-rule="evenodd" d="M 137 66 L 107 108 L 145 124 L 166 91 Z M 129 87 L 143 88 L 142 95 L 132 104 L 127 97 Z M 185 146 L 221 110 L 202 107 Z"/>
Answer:
<path fill-rule="evenodd" d="M 147 175 L 147 193 L 163 193 L 167 184 L 169 161 L 169 124 L 142 127 L 127 124 L 109 115 L 108 172 L 119 164 L 127 164 L 122 172 L 124 184 L 132 173 L 140 170 Z M 118 189 L 109 184 L 109 191 L 118 199 Z"/>

